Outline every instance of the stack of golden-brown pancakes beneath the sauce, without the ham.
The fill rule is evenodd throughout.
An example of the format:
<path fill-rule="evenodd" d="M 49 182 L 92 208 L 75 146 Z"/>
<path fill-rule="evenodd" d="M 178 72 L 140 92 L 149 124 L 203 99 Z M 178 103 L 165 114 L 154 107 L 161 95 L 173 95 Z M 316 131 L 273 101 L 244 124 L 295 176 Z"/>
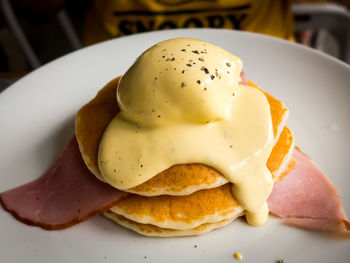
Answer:
<path fill-rule="evenodd" d="M 100 90 L 80 109 L 76 118 L 76 137 L 84 162 L 102 181 L 97 162 L 98 147 L 107 125 L 119 112 L 115 95 L 119 79 Z M 248 85 L 259 89 L 253 82 L 249 81 Z M 267 92 L 262 92 L 270 104 L 274 131 L 274 148 L 267 167 L 277 182 L 294 168 L 294 138 L 285 126 L 288 109 Z M 231 188 L 232 184 L 209 166 L 178 164 L 141 185 L 124 190 L 125 197 L 104 215 L 146 236 L 200 235 L 244 215 Z"/>

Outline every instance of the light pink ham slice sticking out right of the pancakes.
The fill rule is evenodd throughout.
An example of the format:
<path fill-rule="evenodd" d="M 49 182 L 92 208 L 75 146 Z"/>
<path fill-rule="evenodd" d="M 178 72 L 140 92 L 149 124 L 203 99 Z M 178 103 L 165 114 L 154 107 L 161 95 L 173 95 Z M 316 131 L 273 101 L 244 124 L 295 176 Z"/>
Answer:
<path fill-rule="evenodd" d="M 270 212 L 300 228 L 350 230 L 337 190 L 329 179 L 298 149 L 293 157 L 294 170 L 275 184 L 268 199 Z"/>

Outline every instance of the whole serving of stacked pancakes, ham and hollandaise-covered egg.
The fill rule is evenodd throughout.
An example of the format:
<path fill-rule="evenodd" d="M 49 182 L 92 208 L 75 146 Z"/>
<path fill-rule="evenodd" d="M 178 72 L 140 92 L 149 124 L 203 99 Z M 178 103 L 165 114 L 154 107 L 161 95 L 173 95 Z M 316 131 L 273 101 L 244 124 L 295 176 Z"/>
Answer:
<path fill-rule="evenodd" d="M 349 231 L 334 186 L 294 147 L 287 107 L 241 69 L 203 41 L 156 44 L 79 110 L 51 169 L 1 204 L 50 230 L 103 213 L 143 235 L 199 235 L 244 215 L 262 225 L 270 209 L 293 226 Z"/>

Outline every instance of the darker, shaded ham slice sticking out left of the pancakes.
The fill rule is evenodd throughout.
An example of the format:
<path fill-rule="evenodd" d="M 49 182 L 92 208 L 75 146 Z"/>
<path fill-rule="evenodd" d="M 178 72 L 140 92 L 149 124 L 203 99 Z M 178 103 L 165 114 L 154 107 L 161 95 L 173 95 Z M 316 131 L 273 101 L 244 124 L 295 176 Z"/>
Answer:
<path fill-rule="evenodd" d="M 18 220 L 62 229 L 115 205 L 125 193 L 97 180 L 86 168 L 73 137 L 53 167 L 39 179 L 0 194 Z"/>

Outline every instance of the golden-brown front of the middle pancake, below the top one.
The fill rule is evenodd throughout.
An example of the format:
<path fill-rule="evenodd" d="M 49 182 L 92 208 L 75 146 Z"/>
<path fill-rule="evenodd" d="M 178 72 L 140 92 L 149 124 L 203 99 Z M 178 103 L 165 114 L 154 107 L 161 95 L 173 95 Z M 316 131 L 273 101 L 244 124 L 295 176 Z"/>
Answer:
<path fill-rule="evenodd" d="M 232 184 L 228 183 L 184 196 L 130 194 L 110 211 L 141 224 L 188 230 L 241 215 L 243 209 L 231 189 Z"/>

